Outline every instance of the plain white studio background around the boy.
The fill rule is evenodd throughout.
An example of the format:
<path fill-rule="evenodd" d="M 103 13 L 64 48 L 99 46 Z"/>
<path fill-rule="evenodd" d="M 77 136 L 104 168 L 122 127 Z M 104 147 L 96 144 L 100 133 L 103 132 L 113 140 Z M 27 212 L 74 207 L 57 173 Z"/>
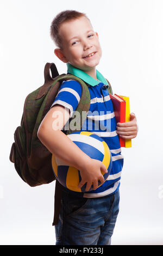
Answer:
<path fill-rule="evenodd" d="M 49 28 L 66 9 L 87 14 L 103 50 L 97 69 L 114 93 L 130 97 L 139 123 L 133 147 L 122 149 L 120 213 L 112 245 L 163 245 L 162 70 L 163 2 L 160 0 L 1 0 L 1 245 L 54 245 L 55 182 L 29 187 L 9 153 L 24 100 L 40 87 L 43 69 L 54 62 Z"/>

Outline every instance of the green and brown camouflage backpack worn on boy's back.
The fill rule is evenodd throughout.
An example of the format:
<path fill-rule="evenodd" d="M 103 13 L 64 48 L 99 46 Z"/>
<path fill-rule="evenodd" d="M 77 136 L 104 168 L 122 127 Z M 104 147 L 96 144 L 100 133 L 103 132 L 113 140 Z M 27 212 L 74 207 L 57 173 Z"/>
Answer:
<path fill-rule="evenodd" d="M 55 180 L 51 164 L 52 154 L 40 142 L 37 137 L 37 130 L 42 119 L 51 108 L 62 81 L 76 80 L 82 86 L 82 96 L 76 111 L 79 113 L 82 113 L 82 111 L 88 112 L 90 108 L 89 84 L 86 84 L 82 79 L 71 74 L 59 75 L 54 63 L 45 65 L 44 77 L 45 83 L 43 86 L 26 97 L 21 125 L 15 130 L 14 143 L 12 143 L 10 151 L 10 161 L 15 164 L 18 175 L 32 187 L 48 184 Z M 109 93 L 112 93 L 110 84 L 108 90 Z M 82 128 L 84 119 L 82 119 L 82 115 L 79 118 L 80 122 L 77 120 L 76 124 L 80 123 L 80 128 Z M 63 132 L 68 134 L 72 131 Z M 57 187 L 59 187 L 59 182 L 56 182 L 55 188 Z"/>

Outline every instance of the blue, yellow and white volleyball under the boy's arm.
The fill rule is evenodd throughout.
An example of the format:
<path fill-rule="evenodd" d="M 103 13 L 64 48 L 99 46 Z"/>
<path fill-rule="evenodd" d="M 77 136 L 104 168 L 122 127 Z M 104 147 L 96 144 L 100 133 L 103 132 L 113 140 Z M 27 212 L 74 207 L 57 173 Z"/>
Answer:
<path fill-rule="evenodd" d="M 106 142 L 95 133 L 87 131 L 73 132 L 67 135 L 85 154 L 92 159 L 101 161 L 108 173 L 103 173 L 104 180 L 106 180 L 110 174 L 112 167 L 111 154 Z M 79 182 L 82 180 L 80 171 L 72 166 L 67 166 L 66 163 L 52 155 L 52 168 L 56 179 L 60 184 L 69 190 L 76 192 L 85 192 L 86 184 L 83 187 L 78 188 Z M 98 187 L 101 186 L 101 181 L 98 181 Z M 93 190 L 93 185 L 90 190 Z"/>

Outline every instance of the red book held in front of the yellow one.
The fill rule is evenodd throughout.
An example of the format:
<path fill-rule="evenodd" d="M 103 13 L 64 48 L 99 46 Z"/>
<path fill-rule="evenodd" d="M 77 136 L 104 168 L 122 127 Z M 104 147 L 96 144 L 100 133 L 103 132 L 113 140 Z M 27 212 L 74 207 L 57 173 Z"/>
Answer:
<path fill-rule="evenodd" d="M 125 123 L 126 122 L 126 101 L 118 96 L 117 94 L 110 95 L 110 99 L 112 101 L 112 105 L 114 107 L 114 113 L 116 118 L 116 123 Z M 125 147 L 125 139 L 120 139 L 120 145 L 121 147 Z"/>

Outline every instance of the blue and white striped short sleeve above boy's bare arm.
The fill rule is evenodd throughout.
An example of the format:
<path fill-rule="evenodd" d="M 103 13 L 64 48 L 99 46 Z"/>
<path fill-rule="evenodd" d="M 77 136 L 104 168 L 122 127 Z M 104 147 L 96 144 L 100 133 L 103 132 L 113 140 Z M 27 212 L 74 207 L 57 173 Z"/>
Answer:
<path fill-rule="evenodd" d="M 64 81 L 59 88 L 51 108 L 56 104 L 68 108 L 70 109 L 71 118 L 73 112 L 77 109 L 81 96 L 82 87 L 80 86 L 80 83 L 74 80 Z"/>

